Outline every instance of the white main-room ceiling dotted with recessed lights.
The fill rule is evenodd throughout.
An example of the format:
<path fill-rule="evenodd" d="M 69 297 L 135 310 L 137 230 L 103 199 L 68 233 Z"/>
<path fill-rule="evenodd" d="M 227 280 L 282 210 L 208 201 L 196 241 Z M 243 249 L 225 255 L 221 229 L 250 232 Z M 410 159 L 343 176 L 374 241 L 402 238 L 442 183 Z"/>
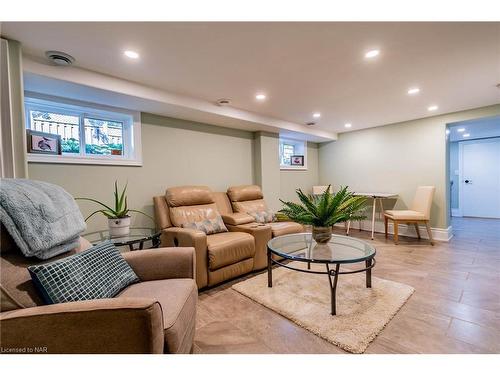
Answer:
<path fill-rule="evenodd" d="M 28 55 L 61 50 L 78 67 L 271 118 L 321 112 L 315 127 L 332 132 L 500 103 L 500 23 L 5 22 L 2 35 Z"/>

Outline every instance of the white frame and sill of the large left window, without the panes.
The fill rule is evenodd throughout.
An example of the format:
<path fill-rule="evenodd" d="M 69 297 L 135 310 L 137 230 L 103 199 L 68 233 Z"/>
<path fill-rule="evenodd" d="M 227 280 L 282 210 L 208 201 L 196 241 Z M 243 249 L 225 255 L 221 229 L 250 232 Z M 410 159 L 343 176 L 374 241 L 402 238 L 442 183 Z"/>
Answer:
<path fill-rule="evenodd" d="M 31 129 L 30 111 L 57 111 L 79 117 L 80 154 L 45 155 L 27 153 L 29 163 L 97 164 L 142 166 L 141 114 L 121 108 L 108 107 L 63 98 L 25 93 L 26 129 Z M 85 154 L 84 118 L 118 121 L 123 123 L 123 155 Z"/>

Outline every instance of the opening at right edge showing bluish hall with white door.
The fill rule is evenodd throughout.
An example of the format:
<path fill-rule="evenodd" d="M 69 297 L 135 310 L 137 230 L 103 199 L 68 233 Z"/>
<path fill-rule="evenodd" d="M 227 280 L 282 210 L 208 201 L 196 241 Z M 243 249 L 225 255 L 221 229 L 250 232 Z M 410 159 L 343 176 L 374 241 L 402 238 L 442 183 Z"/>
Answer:
<path fill-rule="evenodd" d="M 500 219 L 500 116 L 448 125 L 455 217 Z"/>

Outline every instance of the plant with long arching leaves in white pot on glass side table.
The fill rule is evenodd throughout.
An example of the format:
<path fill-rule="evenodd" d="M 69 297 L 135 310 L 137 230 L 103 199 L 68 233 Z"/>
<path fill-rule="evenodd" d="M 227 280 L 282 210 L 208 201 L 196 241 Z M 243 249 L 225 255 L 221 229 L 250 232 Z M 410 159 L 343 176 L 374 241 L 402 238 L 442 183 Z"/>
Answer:
<path fill-rule="evenodd" d="M 139 211 L 132 210 L 128 208 L 127 196 L 125 195 L 127 191 L 127 184 L 121 191 L 118 192 L 118 183 L 115 181 L 115 191 L 114 191 L 114 207 L 110 207 L 97 199 L 93 198 L 75 198 L 80 200 L 86 200 L 99 204 L 102 208 L 92 212 L 89 216 L 85 218 L 85 221 L 90 219 L 95 214 L 101 213 L 108 218 L 109 235 L 111 237 L 122 237 L 130 233 L 130 212 L 137 212 L 149 217 L 151 220 L 154 219 L 148 214 Z"/>

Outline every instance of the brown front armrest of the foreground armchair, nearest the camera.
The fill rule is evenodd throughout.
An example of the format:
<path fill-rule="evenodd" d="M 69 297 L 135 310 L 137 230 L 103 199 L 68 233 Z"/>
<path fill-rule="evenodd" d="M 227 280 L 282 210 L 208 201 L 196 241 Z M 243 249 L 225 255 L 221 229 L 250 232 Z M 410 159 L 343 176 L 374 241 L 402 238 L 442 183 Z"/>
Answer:
<path fill-rule="evenodd" d="M 163 353 L 161 306 L 146 298 L 59 303 L 0 313 L 4 353 Z"/>

